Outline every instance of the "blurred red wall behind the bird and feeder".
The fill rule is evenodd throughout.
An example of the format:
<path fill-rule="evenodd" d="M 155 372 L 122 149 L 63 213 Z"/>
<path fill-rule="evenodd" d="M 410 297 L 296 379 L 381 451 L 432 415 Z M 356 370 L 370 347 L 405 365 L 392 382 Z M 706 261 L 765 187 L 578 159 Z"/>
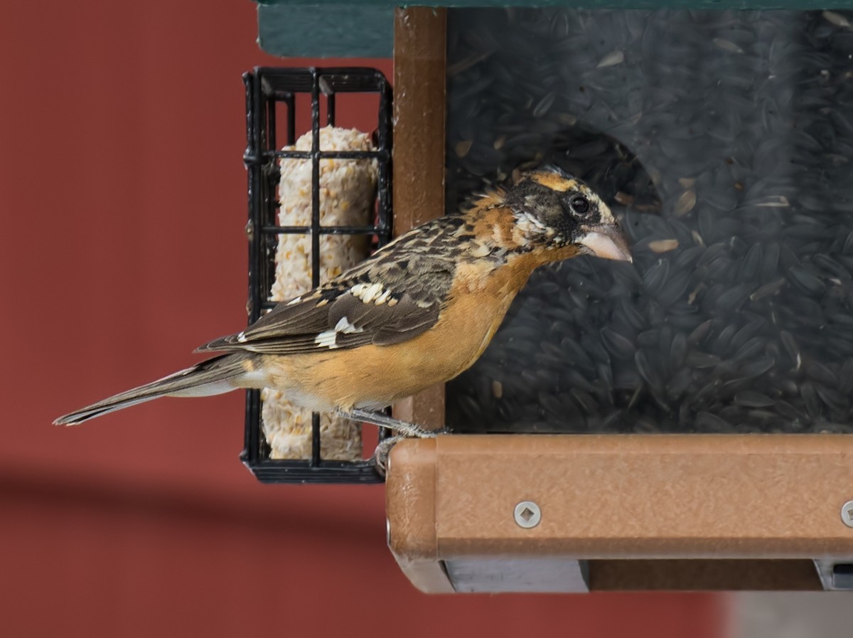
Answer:
<path fill-rule="evenodd" d="M 252 479 L 238 393 L 50 425 L 245 322 L 255 38 L 249 0 L 0 6 L 0 635 L 718 635 L 711 596 L 417 593 L 381 486 Z"/>

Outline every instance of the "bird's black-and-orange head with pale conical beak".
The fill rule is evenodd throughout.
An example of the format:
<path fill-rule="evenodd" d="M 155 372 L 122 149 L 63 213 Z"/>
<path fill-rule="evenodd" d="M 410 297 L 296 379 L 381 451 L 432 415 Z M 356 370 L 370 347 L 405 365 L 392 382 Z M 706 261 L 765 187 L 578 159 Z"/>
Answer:
<path fill-rule="evenodd" d="M 632 261 L 628 239 L 589 186 L 558 168 L 526 173 L 504 197 L 526 243 Z"/>

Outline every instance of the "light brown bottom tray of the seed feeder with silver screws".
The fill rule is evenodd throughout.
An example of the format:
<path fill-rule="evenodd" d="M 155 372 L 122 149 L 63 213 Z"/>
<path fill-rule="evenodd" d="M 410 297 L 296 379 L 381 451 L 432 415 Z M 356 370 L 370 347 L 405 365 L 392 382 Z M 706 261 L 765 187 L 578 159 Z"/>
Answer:
<path fill-rule="evenodd" d="M 388 542 L 427 593 L 832 589 L 850 458 L 835 434 L 407 439 Z"/>

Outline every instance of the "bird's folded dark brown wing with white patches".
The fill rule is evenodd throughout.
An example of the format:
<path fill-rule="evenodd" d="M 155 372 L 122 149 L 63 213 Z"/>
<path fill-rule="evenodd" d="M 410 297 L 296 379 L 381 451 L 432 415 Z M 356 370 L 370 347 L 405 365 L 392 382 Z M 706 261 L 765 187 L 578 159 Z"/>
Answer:
<path fill-rule="evenodd" d="M 456 267 L 452 255 L 425 254 L 421 237 L 403 241 L 407 237 L 324 286 L 282 302 L 243 332 L 197 350 L 296 354 L 412 339 L 438 321 Z"/>

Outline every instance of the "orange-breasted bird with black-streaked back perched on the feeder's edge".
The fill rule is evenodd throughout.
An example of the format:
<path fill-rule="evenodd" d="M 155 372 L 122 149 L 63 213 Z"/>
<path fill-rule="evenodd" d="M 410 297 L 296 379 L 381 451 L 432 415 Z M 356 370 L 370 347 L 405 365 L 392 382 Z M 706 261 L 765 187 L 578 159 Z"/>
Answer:
<path fill-rule="evenodd" d="M 616 217 L 592 188 L 558 167 L 529 171 L 196 349 L 215 357 L 54 423 L 159 397 L 271 387 L 315 412 L 433 437 L 380 410 L 473 365 L 533 270 L 584 254 L 632 261 Z"/>

